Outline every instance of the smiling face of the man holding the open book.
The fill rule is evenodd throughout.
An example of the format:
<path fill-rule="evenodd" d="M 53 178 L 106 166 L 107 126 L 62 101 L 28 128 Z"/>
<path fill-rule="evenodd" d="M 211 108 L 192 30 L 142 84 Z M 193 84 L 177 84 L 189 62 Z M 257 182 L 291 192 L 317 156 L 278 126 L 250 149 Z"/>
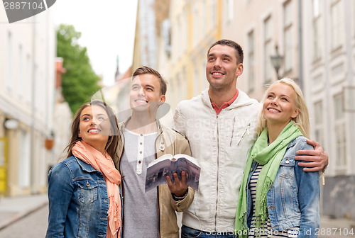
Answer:
<path fill-rule="evenodd" d="M 129 104 L 133 111 L 147 111 L 148 107 L 158 108 L 165 102 L 160 93 L 160 82 L 153 74 L 140 74 L 132 81 Z"/>

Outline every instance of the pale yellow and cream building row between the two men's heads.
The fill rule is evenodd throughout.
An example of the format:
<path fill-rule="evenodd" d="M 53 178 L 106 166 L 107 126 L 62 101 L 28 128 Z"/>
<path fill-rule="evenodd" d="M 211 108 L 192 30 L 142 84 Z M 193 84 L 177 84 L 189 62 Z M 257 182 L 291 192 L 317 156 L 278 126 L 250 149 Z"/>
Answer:
<path fill-rule="evenodd" d="M 154 6 L 150 12 L 154 16 L 143 5 Z M 222 1 L 218 0 L 139 1 L 132 68 L 148 65 L 163 75 L 172 111 L 178 102 L 207 88 L 207 50 L 221 37 L 221 19 Z M 153 43 L 143 47 L 148 41 Z"/>

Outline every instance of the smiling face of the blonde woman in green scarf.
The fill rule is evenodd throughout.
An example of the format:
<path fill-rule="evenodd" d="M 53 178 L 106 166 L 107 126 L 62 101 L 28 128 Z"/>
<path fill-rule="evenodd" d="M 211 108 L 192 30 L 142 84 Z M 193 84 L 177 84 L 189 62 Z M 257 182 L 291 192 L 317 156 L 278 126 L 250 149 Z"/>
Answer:
<path fill-rule="evenodd" d="M 268 125 L 287 125 L 292 118 L 296 118 L 299 111 L 296 107 L 296 93 L 287 84 L 272 86 L 263 103 L 263 115 Z"/>

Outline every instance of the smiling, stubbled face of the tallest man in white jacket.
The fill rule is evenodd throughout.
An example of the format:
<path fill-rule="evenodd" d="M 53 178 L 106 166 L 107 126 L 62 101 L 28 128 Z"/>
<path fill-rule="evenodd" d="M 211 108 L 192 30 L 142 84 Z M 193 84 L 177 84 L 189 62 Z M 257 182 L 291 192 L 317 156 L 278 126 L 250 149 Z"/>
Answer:
<path fill-rule="evenodd" d="M 228 45 L 214 45 L 209 50 L 206 77 L 210 90 L 235 90 L 236 79 L 242 73 L 243 64 L 236 57 L 236 49 Z"/>

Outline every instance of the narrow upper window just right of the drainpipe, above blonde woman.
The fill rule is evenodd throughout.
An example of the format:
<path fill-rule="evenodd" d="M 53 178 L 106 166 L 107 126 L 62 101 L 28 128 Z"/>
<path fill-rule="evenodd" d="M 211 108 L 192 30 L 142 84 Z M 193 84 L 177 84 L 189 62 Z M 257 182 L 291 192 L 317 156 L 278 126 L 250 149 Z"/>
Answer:
<path fill-rule="evenodd" d="M 316 61 L 321 57 L 320 48 L 320 0 L 313 0 L 313 60 Z"/>

